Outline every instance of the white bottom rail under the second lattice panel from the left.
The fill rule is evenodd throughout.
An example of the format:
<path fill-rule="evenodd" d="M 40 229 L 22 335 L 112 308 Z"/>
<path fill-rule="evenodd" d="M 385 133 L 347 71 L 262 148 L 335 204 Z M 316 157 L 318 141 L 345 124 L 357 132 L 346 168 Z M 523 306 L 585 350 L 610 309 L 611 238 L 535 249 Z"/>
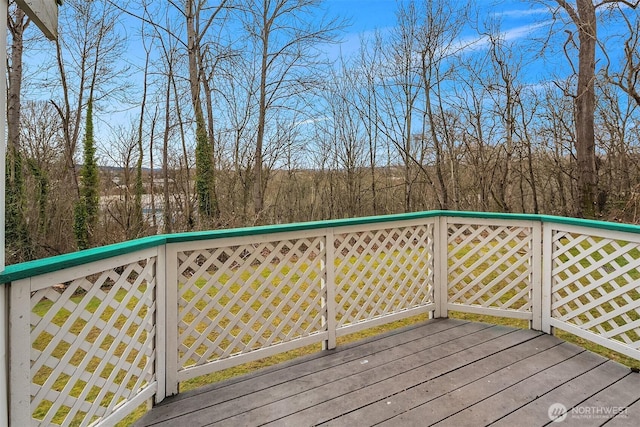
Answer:
<path fill-rule="evenodd" d="M 238 356 L 232 356 L 227 359 L 216 360 L 214 362 L 207 363 L 205 365 L 199 365 L 183 369 L 177 374 L 178 382 L 186 381 L 191 378 L 199 377 L 201 375 L 207 375 L 212 372 L 218 372 L 223 369 L 232 368 L 234 366 L 241 365 L 243 363 L 253 362 L 265 357 L 275 356 L 280 353 L 295 350 L 307 345 L 320 344 L 328 339 L 327 332 L 321 332 L 313 334 L 303 338 L 297 338 L 292 341 L 287 341 L 282 344 L 277 344 L 271 347 L 261 348 L 258 350 L 244 353 Z"/>

